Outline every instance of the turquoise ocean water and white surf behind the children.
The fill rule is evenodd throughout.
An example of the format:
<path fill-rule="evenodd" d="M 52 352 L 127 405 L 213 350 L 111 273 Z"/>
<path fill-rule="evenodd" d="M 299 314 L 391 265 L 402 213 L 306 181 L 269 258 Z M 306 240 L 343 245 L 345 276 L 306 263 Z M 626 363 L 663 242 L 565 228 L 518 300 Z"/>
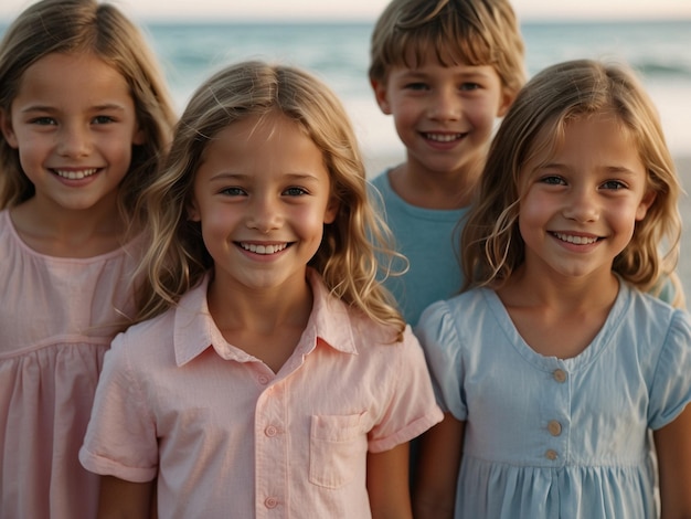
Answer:
<path fill-rule="evenodd" d="M 371 23 L 147 23 L 176 103 L 182 109 L 213 71 L 240 60 L 305 66 L 341 97 L 365 159 L 403 153 L 393 121 L 369 85 Z M 625 61 L 641 75 L 674 155 L 691 156 L 691 20 L 677 22 L 523 23 L 527 68 L 576 57 Z"/>

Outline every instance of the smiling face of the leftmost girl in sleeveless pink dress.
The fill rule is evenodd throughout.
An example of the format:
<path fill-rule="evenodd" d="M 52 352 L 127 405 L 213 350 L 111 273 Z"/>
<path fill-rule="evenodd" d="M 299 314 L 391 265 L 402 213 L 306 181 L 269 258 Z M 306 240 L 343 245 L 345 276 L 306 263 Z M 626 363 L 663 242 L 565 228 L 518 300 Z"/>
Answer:
<path fill-rule="evenodd" d="M 29 66 L 2 131 L 36 202 L 67 210 L 115 204 L 132 145 L 145 140 L 127 82 L 89 53 L 47 54 Z"/>

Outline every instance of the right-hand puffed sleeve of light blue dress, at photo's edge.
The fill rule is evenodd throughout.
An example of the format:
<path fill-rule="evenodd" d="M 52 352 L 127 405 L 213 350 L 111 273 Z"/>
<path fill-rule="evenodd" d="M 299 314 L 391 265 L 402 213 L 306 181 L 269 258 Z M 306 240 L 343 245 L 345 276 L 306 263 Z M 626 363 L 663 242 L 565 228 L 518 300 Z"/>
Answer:
<path fill-rule="evenodd" d="M 691 402 L 691 318 L 672 315 L 650 388 L 648 424 L 658 430 L 672 422 Z"/>

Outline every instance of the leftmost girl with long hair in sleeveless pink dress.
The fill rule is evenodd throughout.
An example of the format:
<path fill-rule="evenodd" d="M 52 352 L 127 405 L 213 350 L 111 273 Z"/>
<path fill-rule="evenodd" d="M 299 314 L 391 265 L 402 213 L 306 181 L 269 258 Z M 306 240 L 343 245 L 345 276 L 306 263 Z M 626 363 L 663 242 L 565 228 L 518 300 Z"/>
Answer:
<path fill-rule="evenodd" d="M 0 44 L 0 517 L 93 518 L 77 453 L 113 337 L 136 311 L 136 197 L 173 110 L 113 6 L 30 6 Z"/>

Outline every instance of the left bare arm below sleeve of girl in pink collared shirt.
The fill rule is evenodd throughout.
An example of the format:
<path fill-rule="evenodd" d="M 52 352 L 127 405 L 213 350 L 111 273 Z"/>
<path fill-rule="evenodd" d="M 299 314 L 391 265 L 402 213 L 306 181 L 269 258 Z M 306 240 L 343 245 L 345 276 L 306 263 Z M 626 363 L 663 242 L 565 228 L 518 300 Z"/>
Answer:
<path fill-rule="evenodd" d="M 98 519 L 149 519 L 156 490 L 156 479 L 132 483 L 113 476 L 100 478 Z"/>

